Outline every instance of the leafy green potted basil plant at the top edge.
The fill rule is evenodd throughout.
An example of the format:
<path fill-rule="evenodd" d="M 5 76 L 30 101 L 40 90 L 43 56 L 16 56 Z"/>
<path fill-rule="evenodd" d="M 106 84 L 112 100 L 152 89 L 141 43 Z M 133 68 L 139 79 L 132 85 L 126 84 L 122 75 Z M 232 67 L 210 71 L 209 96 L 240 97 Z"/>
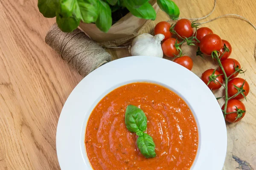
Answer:
<path fill-rule="evenodd" d="M 155 20 L 156 12 L 149 0 L 38 0 L 41 14 L 56 17 L 58 27 L 72 32 L 84 23 L 95 23 L 104 32 L 112 26 L 112 13 L 127 8 L 131 14 L 146 20 Z M 171 19 L 179 17 L 180 10 L 172 0 L 157 0 L 157 4 Z"/>

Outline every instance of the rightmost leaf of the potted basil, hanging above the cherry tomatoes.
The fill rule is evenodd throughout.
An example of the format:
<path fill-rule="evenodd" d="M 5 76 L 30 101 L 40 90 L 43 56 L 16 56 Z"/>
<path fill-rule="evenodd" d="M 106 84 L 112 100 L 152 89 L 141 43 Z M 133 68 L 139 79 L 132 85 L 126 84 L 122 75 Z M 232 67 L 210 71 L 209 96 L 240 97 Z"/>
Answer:
<path fill-rule="evenodd" d="M 172 0 L 157 0 L 157 4 L 172 20 L 177 20 L 180 16 L 180 9 Z"/>

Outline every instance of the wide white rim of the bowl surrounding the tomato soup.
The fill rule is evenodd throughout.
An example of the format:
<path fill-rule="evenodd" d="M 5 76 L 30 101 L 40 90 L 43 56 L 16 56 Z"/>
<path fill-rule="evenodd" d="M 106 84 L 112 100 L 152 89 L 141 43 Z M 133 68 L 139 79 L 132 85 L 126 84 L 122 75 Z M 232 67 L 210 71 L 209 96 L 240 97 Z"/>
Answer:
<path fill-rule="evenodd" d="M 84 145 L 87 120 L 109 92 L 131 82 L 154 82 L 174 91 L 189 105 L 198 132 L 198 153 L 191 170 L 221 170 L 227 130 L 221 108 L 207 85 L 175 62 L 157 57 L 126 57 L 85 77 L 68 97 L 58 121 L 56 147 L 61 170 L 92 170 Z"/>

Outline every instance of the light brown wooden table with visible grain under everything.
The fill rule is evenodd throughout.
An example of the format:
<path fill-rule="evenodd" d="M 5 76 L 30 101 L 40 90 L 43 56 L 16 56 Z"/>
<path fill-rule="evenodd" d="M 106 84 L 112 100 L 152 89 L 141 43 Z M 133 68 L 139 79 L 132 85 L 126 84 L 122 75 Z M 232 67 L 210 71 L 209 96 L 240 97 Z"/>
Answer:
<path fill-rule="evenodd" d="M 214 0 L 176 2 L 180 17 L 202 17 L 214 4 Z M 233 13 L 256 25 L 255 8 L 255 0 L 217 0 L 215 11 L 203 21 Z M 145 31 L 152 31 L 155 23 L 167 18 L 159 12 L 157 20 Z M 46 19 L 39 13 L 37 0 L 0 0 L 0 170 L 59 169 L 55 147 L 58 117 L 82 77 L 44 42 L 54 22 L 55 19 Z M 227 124 L 224 170 L 256 169 L 256 31 L 243 20 L 230 17 L 204 26 L 231 43 L 232 57 L 247 69 L 245 76 L 240 77 L 247 79 L 251 89 L 248 101 L 244 101 L 244 119 Z M 198 76 L 216 67 L 211 59 L 195 57 L 194 48 L 183 49 L 193 58 L 192 71 Z M 113 59 L 130 55 L 126 49 L 108 51 Z M 170 79 L 172 74 L 175 73 L 170 73 Z M 216 96 L 221 96 L 221 91 Z"/>

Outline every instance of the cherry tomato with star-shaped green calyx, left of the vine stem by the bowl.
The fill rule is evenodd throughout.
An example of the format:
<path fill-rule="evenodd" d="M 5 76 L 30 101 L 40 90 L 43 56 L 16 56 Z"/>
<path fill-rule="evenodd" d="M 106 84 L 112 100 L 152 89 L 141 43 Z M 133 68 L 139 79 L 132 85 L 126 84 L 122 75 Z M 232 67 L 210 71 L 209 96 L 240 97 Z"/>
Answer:
<path fill-rule="evenodd" d="M 214 69 L 209 69 L 207 71 L 204 71 L 204 73 L 201 76 L 201 79 L 203 80 L 203 82 L 207 85 L 209 80 L 212 79 L 212 74 L 213 74 Z M 215 71 L 215 74 L 213 76 L 218 76 L 220 74 L 220 72 L 218 72 L 217 70 Z M 219 82 L 221 82 L 221 84 L 223 83 L 223 77 L 222 76 L 218 76 L 215 77 L 215 79 L 217 79 Z M 216 90 L 221 88 L 221 84 L 212 79 L 213 81 L 210 82 L 207 86 L 212 89 L 212 90 Z"/>

